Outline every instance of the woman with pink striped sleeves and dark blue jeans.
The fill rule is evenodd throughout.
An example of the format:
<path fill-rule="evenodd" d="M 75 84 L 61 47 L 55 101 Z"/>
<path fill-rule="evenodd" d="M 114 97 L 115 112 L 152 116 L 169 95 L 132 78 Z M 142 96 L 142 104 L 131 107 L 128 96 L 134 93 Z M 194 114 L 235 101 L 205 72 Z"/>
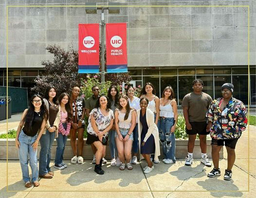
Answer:
<path fill-rule="evenodd" d="M 70 132 L 72 112 L 70 106 L 70 96 L 67 93 L 60 94 L 58 102 L 60 105 L 60 122 L 58 136 L 56 137 L 57 148 L 55 154 L 54 167 L 61 170 L 67 167 L 67 165 L 63 163 L 62 160 L 67 142 L 67 137 Z"/>

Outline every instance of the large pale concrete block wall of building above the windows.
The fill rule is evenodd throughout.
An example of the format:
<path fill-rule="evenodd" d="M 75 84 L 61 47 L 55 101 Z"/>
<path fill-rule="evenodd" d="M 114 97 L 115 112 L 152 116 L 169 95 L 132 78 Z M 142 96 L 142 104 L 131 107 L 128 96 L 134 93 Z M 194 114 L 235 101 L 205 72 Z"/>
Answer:
<path fill-rule="evenodd" d="M 0 0 L 0 67 L 6 67 L 7 5 L 84 5 L 95 0 Z M 250 5 L 250 64 L 256 65 L 255 0 L 96 0 L 121 5 Z M 128 66 L 247 65 L 247 8 L 122 7 L 106 23 L 128 22 Z M 99 23 L 82 7 L 9 7 L 8 66 L 40 67 L 58 44 L 77 49 L 79 23 Z"/>

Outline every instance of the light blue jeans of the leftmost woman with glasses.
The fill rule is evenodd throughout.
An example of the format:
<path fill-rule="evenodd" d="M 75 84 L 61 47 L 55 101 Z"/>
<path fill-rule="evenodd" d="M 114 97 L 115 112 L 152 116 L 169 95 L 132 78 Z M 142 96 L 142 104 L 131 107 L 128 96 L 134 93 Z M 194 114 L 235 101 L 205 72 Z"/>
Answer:
<path fill-rule="evenodd" d="M 26 135 L 22 130 L 18 135 L 19 141 L 19 162 L 22 170 L 22 178 L 26 183 L 30 181 L 29 171 L 28 171 L 28 156 L 29 156 L 29 165 L 32 170 L 32 182 L 37 181 L 38 178 L 38 167 L 37 167 L 37 150 L 33 151 L 33 143 L 36 141 L 37 135 L 34 137 Z"/>

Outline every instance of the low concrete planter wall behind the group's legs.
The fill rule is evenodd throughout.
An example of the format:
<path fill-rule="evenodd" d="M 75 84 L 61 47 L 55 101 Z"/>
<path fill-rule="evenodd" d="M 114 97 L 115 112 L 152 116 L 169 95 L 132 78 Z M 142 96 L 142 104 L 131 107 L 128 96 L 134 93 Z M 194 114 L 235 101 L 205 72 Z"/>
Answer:
<path fill-rule="evenodd" d="M 177 159 L 185 159 L 187 155 L 187 140 L 176 140 L 176 155 L 175 157 Z M 54 141 L 53 147 L 52 147 L 52 159 L 55 158 L 55 152 L 56 152 L 56 140 Z M 6 139 L 0 139 L 0 160 L 6 159 L 6 152 L 7 152 L 7 144 Z M 160 146 L 161 149 L 161 156 L 159 156 L 159 159 L 163 159 L 163 151 L 162 146 Z M 211 155 L 211 140 L 207 140 L 207 155 L 209 158 L 212 158 Z M 40 143 L 38 145 L 38 151 L 37 151 L 37 158 L 39 159 L 39 151 L 40 151 Z M 70 160 L 73 157 L 73 151 L 71 148 L 70 140 L 68 139 L 65 152 L 64 152 L 64 159 Z M 84 144 L 83 149 L 83 158 L 84 159 L 92 159 L 93 154 L 91 151 L 91 146 Z M 221 151 L 219 153 L 219 157 L 223 158 L 223 148 L 221 148 Z M 106 159 L 111 159 L 110 156 L 110 149 L 109 146 L 107 146 L 106 150 Z M 193 158 L 200 159 L 201 158 L 201 148 L 200 148 L 200 141 L 196 140 L 195 142 L 195 148 L 194 148 L 194 154 Z M 15 139 L 8 139 L 8 159 L 9 160 L 17 160 L 18 159 L 18 149 L 15 147 Z"/>

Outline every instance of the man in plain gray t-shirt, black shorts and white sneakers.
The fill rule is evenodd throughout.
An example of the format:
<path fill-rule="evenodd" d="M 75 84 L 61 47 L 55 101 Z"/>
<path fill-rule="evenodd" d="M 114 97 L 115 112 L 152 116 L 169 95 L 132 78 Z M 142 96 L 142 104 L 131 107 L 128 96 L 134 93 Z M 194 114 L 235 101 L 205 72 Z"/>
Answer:
<path fill-rule="evenodd" d="M 198 133 L 201 147 L 201 163 L 211 167 L 206 155 L 206 135 L 209 134 L 209 132 L 206 132 L 206 112 L 212 102 L 212 98 L 202 92 L 203 82 L 201 80 L 194 80 L 192 88 L 193 92 L 185 95 L 182 101 L 186 133 L 188 134 L 188 155 L 185 158 L 185 165 L 191 165 L 193 162 L 193 149 Z"/>

